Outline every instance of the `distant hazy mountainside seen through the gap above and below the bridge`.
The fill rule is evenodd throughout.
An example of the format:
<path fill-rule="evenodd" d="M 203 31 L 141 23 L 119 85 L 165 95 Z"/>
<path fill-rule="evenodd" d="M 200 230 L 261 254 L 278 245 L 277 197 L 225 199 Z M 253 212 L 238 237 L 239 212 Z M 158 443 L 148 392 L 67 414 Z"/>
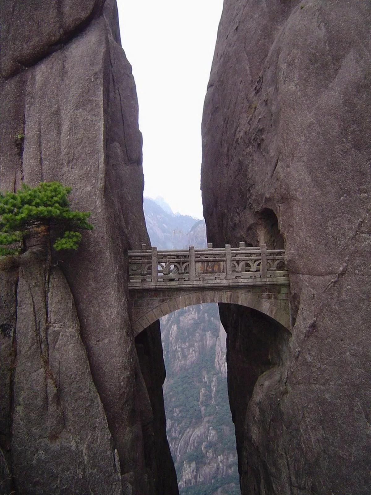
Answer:
<path fill-rule="evenodd" d="M 175 215 L 144 198 L 152 245 L 206 247 L 203 220 Z M 197 304 L 161 318 L 166 366 L 166 430 L 180 495 L 239 495 L 234 427 L 227 390 L 226 332 L 218 305 Z"/>

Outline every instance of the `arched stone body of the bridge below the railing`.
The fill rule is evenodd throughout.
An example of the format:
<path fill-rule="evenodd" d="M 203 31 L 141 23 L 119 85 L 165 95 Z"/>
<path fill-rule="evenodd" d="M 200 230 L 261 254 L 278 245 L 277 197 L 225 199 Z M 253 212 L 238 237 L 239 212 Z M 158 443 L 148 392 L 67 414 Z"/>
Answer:
<path fill-rule="evenodd" d="M 132 290 L 132 324 L 137 336 L 151 323 L 173 311 L 207 302 L 226 302 L 255 309 L 290 331 L 287 285 L 223 289 Z M 134 293 L 134 294 L 133 294 Z"/>

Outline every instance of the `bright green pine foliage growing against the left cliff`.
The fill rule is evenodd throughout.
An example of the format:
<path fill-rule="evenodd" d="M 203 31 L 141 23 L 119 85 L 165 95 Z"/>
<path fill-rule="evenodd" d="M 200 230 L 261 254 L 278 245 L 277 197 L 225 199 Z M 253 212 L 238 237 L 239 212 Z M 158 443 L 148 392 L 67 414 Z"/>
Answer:
<path fill-rule="evenodd" d="M 77 249 L 80 230 L 91 230 L 90 212 L 71 211 L 67 196 L 72 188 L 60 182 L 42 182 L 30 188 L 22 184 L 16 193 L 0 192 L 0 255 L 16 254 L 32 230 L 49 234 L 54 226 L 63 235 L 57 237 L 54 249 Z"/>

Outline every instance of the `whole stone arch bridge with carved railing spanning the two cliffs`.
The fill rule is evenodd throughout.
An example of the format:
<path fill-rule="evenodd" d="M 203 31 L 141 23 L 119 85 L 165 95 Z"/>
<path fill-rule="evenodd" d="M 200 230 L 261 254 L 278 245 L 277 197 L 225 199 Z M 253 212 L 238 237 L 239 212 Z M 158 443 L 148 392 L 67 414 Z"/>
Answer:
<path fill-rule="evenodd" d="M 134 333 L 177 309 L 229 302 L 256 309 L 290 330 L 289 279 L 283 249 L 257 247 L 129 251 Z"/>

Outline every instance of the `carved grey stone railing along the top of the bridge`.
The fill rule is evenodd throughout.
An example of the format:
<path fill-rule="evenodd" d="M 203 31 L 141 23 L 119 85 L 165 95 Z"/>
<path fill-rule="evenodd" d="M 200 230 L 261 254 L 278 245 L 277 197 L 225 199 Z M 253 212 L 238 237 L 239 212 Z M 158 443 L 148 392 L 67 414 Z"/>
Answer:
<path fill-rule="evenodd" d="M 165 285 L 197 281 L 245 281 L 265 280 L 287 276 L 283 249 L 226 245 L 213 249 L 157 250 L 142 245 L 138 251 L 129 251 L 129 282 Z"/>

